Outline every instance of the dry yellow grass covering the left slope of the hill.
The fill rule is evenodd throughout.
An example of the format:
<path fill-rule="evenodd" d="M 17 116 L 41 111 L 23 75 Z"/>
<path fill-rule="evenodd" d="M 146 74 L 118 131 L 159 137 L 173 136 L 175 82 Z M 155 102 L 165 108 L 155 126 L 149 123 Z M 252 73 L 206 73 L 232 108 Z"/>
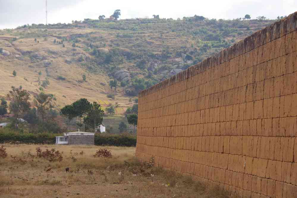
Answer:
<path fill-rule="evenodd" d="M 53 43 L 56 37 L 50 35 L 67 36 L 70 34 L 81 33 L 85 34 L 91 32 L 92 29 L 65 29 L 65 30 L 55 30 L 52 29 L 47 40 L 43 37 L 38 38 L 39 43 L 34 42 L 34 38 L 22 38 L 12 42 L 12 45 L 8 41 L 0 39 L 0 47 L 9 51 L 10 56 L 2 56 L 0 54 L 0 97 L 7 95 L 11 86 L 18 87 L 22 85 L 23 89 L 27 89 L 31 93 L 39 93 L 38 85 L 38 72 L 41 71 L 42 75 L 40 80 L 44 81 L 47 77 L 50 84 L 44 91 L 46 93 L 54 94 L 56 97 L 56 106 L 62 108 L 66 104 L 70 104 L 75 100 L 80 98 L 87 98 L 89 101 L 102 101 L 100 103 L 103 106 L 108 104 L 115 104 L 116 102 L 125 109 L 130 106 L 128 102 L 128 97 L 125 96 L 124 90 L 119 87 L 117 89 L 117 96 L 115 100 L 107 98 L 106 93 L 111 92 L 108 85 L 109 77 L 102 73 L 90 73 L 88 72 L 81 63 L 77 62 L 79 56 L 85 55 L 90 56 L 86 53 L 83 48 L 86 47 L 83 43 L 78 45 L 82 48 L 75 48 L 75 53 L 77 55 L 73 56 L 73 47 L 71 42 L 64 42 L 65 48 L 62 45 L 56 45 Z M 34 34 L 42 33 L 42 31 L 25 31 L 20 32 L 15 30 L 10 36 L 14 37 L 15 34 Z M 55 34 L 56 33 L 56 34 Z M 17 36 L 18 37 L 18 36 Z M 58 39 L 59 40 L 59 39 Z M 22 56 L 20 51 L 33 51 L 32 54 L 40 54 L 47 57 L 48 62 L 51 65 L 48 67 L 44 66 L 44 60 L 30 60 L 30 55 Z M 52 54 L 49 51 L 56 51 L 57 54 Z M 21 58 L 15 58 L 15 55 L 21 55 Z M 32 55 L 31 54 L 31 55 Z M 65 60 L 72 59 L 71 64 L 67 64 Z M 16 70 L 17 76 L 13 77 L 12 72 Z M 46 71 L 47 70 L 47 71 Z M 86 74 L 87 81 L 82 82 L 82 75 Z M 58 80 L 58 76 L 63 76 L 66 80 Z M 26 79 L 26 80 L 25 80 Z M 105 83 L 106 86 L 100 83 Z"/>

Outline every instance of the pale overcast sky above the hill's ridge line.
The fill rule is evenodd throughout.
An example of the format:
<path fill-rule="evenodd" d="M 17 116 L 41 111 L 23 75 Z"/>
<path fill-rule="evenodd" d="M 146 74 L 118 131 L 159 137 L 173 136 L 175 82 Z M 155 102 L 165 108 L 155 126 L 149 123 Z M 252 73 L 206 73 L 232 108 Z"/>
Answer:
<path fill-rule="evenodd" d="M 152 18 L 153 14 L 174 19 L 195 14 L 216 19 L 245 14 L 275 19 L 296 12 L 297 0 L 48 0 L 48 23 L 108 17 L 116 9 L 121 10 L 120 19 Z M 45 0 L 0 0 L 0 29 L 27 23 L 45 23 Z"/>

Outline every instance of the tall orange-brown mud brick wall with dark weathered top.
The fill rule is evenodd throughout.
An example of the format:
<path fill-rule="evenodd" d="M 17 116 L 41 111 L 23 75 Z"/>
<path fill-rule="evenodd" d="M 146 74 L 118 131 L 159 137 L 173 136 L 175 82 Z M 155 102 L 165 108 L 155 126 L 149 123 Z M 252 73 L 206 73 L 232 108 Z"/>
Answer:
<path fill-rule="evenodd" d="M 297 12 L 139 93 L 136 155 L 239 197 L 297 197 Z"/>

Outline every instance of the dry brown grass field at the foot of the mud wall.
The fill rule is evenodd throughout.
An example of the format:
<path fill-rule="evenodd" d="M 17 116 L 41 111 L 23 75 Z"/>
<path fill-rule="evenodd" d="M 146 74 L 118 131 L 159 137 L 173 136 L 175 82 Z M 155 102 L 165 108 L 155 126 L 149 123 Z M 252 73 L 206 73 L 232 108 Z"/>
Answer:
<path fill-rule="evenodd" d="M 3 146 L 7 157 L 0 158 L 0 197 L 228 197 L 191 178 L 137 161 L 135 147 Z M 37 147 L 59 150 L 62 161 L 37 158 Z M 110 150 L 112 158 L 93 157 L 99 148 Z"/>

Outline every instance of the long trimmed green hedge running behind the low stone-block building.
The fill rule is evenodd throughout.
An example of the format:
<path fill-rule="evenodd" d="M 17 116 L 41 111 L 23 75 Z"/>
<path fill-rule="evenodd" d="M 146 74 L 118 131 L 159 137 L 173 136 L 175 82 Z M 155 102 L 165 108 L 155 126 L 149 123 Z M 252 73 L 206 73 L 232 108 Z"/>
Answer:
<path fill-rule="evenodd" d="M 0 133 L 0 143 L 55 144 L 55 136 L 62 136 L 62 134 L 2 132 Z M 135 147 L 136 137 L 130 135 L 95 134 L 95 145 Z"/>

